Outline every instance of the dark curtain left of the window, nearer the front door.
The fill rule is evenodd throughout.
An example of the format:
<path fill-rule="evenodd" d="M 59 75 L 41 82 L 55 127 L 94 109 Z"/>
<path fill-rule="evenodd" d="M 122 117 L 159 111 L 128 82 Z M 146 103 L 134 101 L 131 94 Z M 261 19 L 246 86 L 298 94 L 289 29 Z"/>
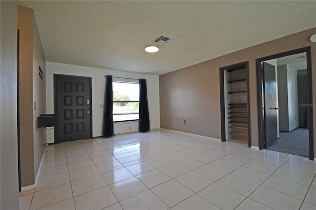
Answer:
<path fill-rule="evenodd" d="M 114 136 L 112 75 L 106 76 L 104 106 L 103 137 L 110 138 Z"/>

